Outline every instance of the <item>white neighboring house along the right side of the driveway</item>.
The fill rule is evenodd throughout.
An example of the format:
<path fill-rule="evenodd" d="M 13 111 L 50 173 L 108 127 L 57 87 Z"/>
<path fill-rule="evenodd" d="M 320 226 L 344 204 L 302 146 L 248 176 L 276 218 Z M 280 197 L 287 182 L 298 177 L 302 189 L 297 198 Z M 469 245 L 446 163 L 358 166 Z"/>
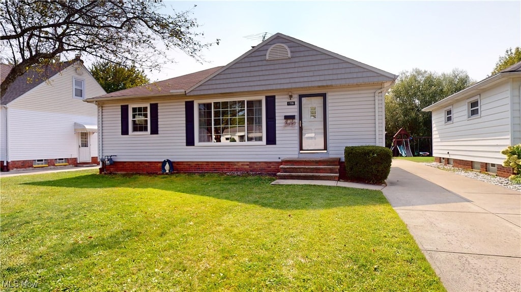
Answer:
<path fill-rule="evenodd" d="M 503 167 L 508 145 L 521 143 L 521 62 L 442 99 L 432 112 L 432 147 L 437 162 L 512 175 Z"/>

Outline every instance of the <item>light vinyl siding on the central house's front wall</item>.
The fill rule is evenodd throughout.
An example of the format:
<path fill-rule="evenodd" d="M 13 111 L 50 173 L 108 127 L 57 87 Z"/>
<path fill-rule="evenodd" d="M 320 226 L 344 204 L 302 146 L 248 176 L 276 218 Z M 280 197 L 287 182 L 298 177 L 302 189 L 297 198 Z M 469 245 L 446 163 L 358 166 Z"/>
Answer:
<path fill-rule="evenodd" d="M 324 91 L 296 91 L 299 94 L 315 94 L 326 92 L 329 113 L 329 156 L 343 157 L 347 145 L 374 145 L 375 133 L 375 91 L 380 87 L 336 89 Z M 118 155 L 115 161 L 251 161 L 276 162 L 281 158 L 299 156 L 299 126 L 288 126 L 284 123 L 284 115 L 295 115 L 298 118 L 299 104 L 287 105 L 288 91 L 267 92 L 265 96 L 276 96 L 276 145 L 250 145 L 237 143 L 234 147 L 219 143 L 199 146 L 185 145 L 185 100 L 158 101 L 159 135 L 120 135 L 120 104 L 104 105 L 103 121 L 103 154 Z M 245 95 L 243 98 L 247 98 Z M 195 99 L 194 103 L 209 99 L 225 99 L 226 96 L 214 96 Z M 241 97 L 228 97 L 240 99 Z M 381 100 L 381 96 L 380 96 Z M 292 101 L 295 101 L 293 99 Z M 379 107 L 379 131 L 383 136 L 382 105 Z M 194 108 L 197 114 L 197 108 Z M 195 116 L 197 118 L 197 116 Z M 264 122 L 264 121 L 263 121 Z M 195 127 L 194 127 L 195 128 Z M 196 136 L 197 140 L 198 137 Z M 381 142 L 381 141 L 380 141 Z"/>

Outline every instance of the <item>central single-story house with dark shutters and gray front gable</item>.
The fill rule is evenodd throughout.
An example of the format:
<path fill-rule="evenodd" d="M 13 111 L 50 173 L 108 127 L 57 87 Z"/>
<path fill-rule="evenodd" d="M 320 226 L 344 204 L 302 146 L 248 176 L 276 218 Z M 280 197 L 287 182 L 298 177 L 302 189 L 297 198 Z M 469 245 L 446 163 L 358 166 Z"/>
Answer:
<path fill-rule="evenodd" d="M 384 145 L 397 76 L 277 33 L 225 67 L 89 98 L 115 172 L 276 173 L 283 158 Z M 337 166 L 339 163 L 337 162 Z"/>

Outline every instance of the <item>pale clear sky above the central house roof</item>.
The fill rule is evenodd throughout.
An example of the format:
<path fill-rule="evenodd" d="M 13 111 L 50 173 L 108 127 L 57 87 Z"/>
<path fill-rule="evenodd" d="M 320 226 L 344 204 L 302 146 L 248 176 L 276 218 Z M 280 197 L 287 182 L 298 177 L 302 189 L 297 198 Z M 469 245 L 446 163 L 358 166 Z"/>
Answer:
<path fill-rule="evenodd" d="M 193 9 L 203 42 L 221 39 L 199 64 L 182 52 L 176 63 L 147 72 L 151 81 L 226 65 L 259 43 L 244 36 L 277 32 L 399 74 L 454 68 L 486 78 L 507 48 L 521 46 L 521 2 L 166 2 Z"/>

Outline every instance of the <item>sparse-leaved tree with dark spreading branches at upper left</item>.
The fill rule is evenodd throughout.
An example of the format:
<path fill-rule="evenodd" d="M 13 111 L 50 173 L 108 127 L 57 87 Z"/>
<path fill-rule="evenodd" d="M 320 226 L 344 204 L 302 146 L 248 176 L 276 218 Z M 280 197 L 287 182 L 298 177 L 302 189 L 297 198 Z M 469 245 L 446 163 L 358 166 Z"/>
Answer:
<path fill-rule="evenodd" d="M 0 1 L 0 57 L 13 64 L 0 94 L 29 68 L 78 52 L 146 69 L 173 61 L 170 49 L 202 61 L 201 51 L 219 39 L 201 43 L 191 10 L 161 14 L 164 6 L 161 0 Z"/>

